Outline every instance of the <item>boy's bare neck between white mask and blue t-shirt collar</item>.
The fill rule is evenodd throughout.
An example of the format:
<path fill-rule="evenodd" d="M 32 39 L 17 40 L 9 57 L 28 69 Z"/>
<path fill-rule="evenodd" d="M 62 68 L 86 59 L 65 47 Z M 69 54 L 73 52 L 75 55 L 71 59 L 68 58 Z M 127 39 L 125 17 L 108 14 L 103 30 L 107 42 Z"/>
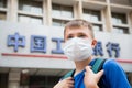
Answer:
<path fill-rule="evenodd" d="M 92 56 L 90 56 L 88 59 L 85 59 L 85 61 L 81 61 L 81 62 L 75 62 L 75 65 L 76 65 L 75 75 L 77 75 L 78 73 L 84 70 L 85 67 L 88 66 L 88 64 L 91 62 L 91 59 L 92 59 Z"/>

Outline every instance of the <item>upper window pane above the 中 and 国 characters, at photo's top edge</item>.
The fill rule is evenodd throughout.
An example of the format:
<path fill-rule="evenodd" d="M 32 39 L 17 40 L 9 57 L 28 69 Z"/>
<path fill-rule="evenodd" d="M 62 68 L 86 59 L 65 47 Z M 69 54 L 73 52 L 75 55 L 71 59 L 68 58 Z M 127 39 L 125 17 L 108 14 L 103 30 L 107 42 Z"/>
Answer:
<path fill-rule="evenodd" d="M 33 0 L 19 0 L 19 10 L 32 12 L 36 14 L 42 13 L 42 2 Z"/>

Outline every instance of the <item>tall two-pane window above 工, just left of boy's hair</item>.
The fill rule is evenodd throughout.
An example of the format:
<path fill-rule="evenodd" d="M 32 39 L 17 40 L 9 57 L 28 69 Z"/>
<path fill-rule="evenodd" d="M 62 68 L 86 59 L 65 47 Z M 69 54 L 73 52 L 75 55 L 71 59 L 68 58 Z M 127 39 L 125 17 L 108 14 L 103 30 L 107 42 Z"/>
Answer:
<path fill-rule="evenodd" d="M 61 6 L 61 4 L 53 4 L 52 6 L 52 16 L 54 26 L 64 26 L 68 21 L 74 18 L 73 7 L 69 6 Z"/>

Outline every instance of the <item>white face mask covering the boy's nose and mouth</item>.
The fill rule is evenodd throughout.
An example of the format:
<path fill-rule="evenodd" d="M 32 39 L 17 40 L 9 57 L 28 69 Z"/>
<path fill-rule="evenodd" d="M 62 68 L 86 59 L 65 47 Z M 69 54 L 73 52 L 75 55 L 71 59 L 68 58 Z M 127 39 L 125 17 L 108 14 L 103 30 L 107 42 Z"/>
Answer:
<path fill-rule="evenodd" d="M 64 45 L 64 54 L 72 61 L 84 61 L 94 53 L 90 40 L 74 37 Z"/>

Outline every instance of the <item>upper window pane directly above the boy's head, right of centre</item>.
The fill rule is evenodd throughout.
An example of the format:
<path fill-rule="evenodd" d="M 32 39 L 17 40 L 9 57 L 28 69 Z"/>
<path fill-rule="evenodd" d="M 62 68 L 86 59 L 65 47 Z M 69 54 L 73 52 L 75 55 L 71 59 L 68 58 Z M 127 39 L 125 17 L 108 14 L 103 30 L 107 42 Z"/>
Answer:
<path fill-rule="evenodd" d="M 91 22 L 101 21 L 101 13 L 100 11 L 84 9 L 82 18 Z"/>

